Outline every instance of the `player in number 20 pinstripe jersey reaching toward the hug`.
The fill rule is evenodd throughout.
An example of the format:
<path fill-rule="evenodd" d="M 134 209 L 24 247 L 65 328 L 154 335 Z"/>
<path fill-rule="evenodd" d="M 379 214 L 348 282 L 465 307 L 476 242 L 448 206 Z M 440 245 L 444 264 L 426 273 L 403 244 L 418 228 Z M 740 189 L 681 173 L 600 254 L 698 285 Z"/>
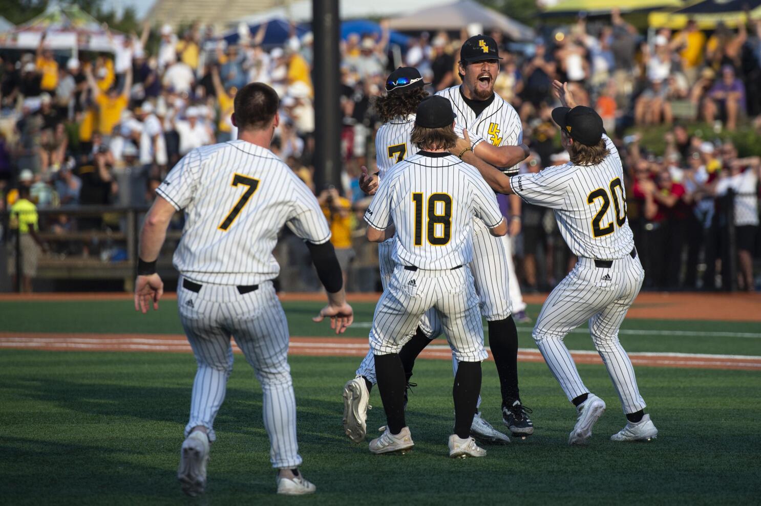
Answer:
<path fill-rule="evenodd" d="M 632 362 L 618 339 L 619 327 L 642 287 L 645 271 L 634 247 L 626 219 L 623 169 L 616 147 L 604 133 L 594 109 L 576 106 L 566 84 L 553 83 L 562 107 L 552 111 L 563 147 L 571 161 L 541 172 L 508 177 L 472 157 L 482 176 L 496 191 L 518 194 L 530 204 L 555 211 L 563 239 L 578 263 L 549 294 L 533 329 L 533 338 L 578 410 L 568 444 L 584 444 L 592 426 L 605 411 L 605 402 L 584 386 L 565 335 L 584 321 L 619 394 L 626 426 L 613 441 L 649 440 L 658 429 L 645 414 Z M 467 137 L 467 135 L 466 135 Z"/>

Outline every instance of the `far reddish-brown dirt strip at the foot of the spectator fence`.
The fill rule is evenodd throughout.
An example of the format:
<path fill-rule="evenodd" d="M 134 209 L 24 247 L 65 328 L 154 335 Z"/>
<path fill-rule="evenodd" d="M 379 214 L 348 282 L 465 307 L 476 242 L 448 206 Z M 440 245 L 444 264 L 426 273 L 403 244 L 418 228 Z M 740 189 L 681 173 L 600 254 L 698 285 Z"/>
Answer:
<path fill-rule="evenodd" d="M 379 293 L 349 293 L 349 302 L 377 302 Z M 172 300 L 174 293 L 164 294 Z M 283 302 L 322 302 L 321 293 L 281 293 Z M 546 294 L 525 296 L 529 304 L 542 304 Z M 2 293 L 0 302 L 11 301 L 129 301 L 129 293 Z M 126 302 L 128 303 L 128 302 Z M 640 293 L 628 318 L 658 320 L 724 320 L 761 322 L 761 293 Z"/>

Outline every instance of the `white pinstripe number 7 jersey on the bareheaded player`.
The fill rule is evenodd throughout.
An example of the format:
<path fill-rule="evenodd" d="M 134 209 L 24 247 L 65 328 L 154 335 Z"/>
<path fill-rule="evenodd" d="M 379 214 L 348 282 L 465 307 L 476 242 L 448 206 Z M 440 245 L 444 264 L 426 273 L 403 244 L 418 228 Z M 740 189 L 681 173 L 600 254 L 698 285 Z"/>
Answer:
<path fill-rule="evenodd" d="M 185 210 L 174 267 L 199 283 L 253 285 L 277 277 L 272 250 L 284 224 L 315 244 L 330 239 L 307 185 L 270 150 L 247 141 L 190 151 L 156 192 Z"/>

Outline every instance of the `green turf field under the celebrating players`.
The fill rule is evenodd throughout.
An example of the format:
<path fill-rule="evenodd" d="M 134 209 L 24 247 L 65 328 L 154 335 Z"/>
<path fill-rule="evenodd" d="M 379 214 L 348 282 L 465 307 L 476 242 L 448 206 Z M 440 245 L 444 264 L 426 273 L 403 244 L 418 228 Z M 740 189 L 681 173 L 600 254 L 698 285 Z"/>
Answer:
<path fill-rule="evenodd" d="M 310 317 L 319 304 L 285 305 L 291 334 L 329 335 Z M 356 304 L 366 336 L 372 305 Z M 536 308 L 530 313 L 536 315 Z M 631 351 L 761 355 L 759 324 L 629 320 Z M 0 302 L 0 330 L 179 334 L 174 301 L 136 315 L 129 302 Z M 645 330 L 652 335 L 640 334 Z M 669 334 L 677 332 L 679 334 Z M 720 334 L 721 333 L 721 334 Z M 745 336 L 745 337 L 743 337 Z M 592 349 L 584 334 L 572 349 Z M 521 346 L 533 347 L 530 326 Z M 317 495 L 279 498 L 261 422 L 261 393 L 236 356 L 228 397 L 215 423 L 209 488 L 186 498 L 175 479 L 195 372 L 177 353 L 73 353 L 0 349 L 2 504 L 756 504 L 761 496 L 761 374 L 696 368 L 637 369 L 658 439 L 614 444 L 624 424 L 607 373 L 580 365 L 608 404 L 587 447 L 568 447 L 575 411 L 543 363 L 521 363 L 521 392 L 535 435 L 488 447 L 483 459 L 447 458 L 451 364 L 419 360 L 408 422 L 416 448 L 375 456 L 341 429 L 341 387 L 358 359 L 292 356 L 302 470 Z M 483 367 L 482 411 L 498 422 L 495 368 Z M 374 392 L 368 426 L 384 423 Z M 495 423 L 496 425 L 496 423 Z"/>

